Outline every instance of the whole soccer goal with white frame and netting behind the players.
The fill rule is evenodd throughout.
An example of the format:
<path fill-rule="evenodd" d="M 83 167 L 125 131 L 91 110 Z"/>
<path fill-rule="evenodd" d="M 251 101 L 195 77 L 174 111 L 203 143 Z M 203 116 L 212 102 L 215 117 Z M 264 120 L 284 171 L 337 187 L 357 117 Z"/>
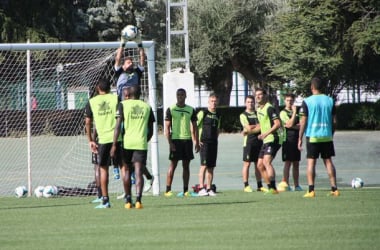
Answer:
<path fill-rule="evenodd" d="M 37 186 L 67 187 L 68 195 L 86 195 L 83 190 L 93 188 L 84 107 L 100 77 L 116 88 L 119 44 L 0 44 L 0 197 L 12 195 L 17 186 L 26 186 L 29 195 Z M 154 42 L 142 44 L 147 56 L 142 98 L 157 120 Z M 125 48 L 137 64 L 137 44 L 127 42 Z M 153 195 L 159 195 L 157 132 L 155 123 L 147 162 L 155 177 Z M 109 191 L 124 192 L 112 174 Z"/>

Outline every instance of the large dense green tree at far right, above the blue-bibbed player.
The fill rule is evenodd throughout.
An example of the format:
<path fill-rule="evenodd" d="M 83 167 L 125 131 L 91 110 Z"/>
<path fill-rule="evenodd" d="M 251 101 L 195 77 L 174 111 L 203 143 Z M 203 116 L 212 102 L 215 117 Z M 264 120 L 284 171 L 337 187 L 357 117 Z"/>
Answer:
<path fill-rule="evenodd" d="M 290 1 L 265 34 L 267 66 L 279 83 L 292 80 L 304 93 L 316 75 L 329 82 L 332 96 L 358 82 L 379 82 L 378 70 L 368 71 L 364 61 L 380 66 L 379 24 L 378 1 Z"/>

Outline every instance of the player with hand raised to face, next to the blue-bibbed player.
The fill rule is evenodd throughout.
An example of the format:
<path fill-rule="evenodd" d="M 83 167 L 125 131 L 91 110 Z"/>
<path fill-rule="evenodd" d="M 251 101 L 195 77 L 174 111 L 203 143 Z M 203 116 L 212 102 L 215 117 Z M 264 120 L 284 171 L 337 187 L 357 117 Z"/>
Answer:
<path fill-rule="evenodd" d="M 299 114 L 297 106 L 294 105 L 294 94 L 288 93 L 284 96 L 285 107 L 280 112 L 280 118 L 283 125 L 282 143 L 282 161 L 284 162 L 284 170 L 282 181 L 278 185 L 279 190 L 291 191 L 289 185 L 289 172 L 292 168 L 294 190 L 302 191 L 299 185 L 299 162 L 301 160 L 301 151 L 298 149 L 298 134 L 299 134 Z"/>

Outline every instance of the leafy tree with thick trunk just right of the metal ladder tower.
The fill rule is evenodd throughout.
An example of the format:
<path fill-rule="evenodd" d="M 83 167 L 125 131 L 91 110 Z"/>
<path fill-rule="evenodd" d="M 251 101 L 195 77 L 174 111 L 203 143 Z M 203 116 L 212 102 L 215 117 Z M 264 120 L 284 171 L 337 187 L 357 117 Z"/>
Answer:
<path fill-rule="evenodd" d="M 189 1 L 191 70 L 198 84 L 205 84 L 228 105 L 232 72 L 262 81 L 260 31 L 274 10 L 272 1 Z"/>

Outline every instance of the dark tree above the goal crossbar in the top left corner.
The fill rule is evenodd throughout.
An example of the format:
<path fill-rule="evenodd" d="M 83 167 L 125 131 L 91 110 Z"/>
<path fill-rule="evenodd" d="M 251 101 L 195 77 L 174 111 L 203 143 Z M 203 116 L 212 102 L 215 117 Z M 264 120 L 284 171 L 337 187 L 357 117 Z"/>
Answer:
<path fill-rule="evenodd" d="M 2 1 L 0 42 L 83 40 L 88 34 L 86 16 L 83 14 L 83 4 L 77 2 L 79 0 Z"/>

